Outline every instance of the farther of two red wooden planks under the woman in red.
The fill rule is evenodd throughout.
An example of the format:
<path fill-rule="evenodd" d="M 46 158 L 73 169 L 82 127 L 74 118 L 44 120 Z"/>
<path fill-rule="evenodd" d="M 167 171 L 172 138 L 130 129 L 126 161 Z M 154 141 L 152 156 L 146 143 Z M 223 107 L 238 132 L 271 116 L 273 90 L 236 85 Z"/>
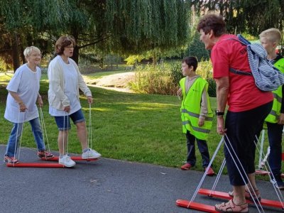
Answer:
<path fill-rule="evenodd" d="M 231 200 L 231 196 L 227 192 L 218 192 L 218 191 L 212 191 L 212 190 L 206 190 L 206 189 L 200 189 L 198 191 L 198 194 L 200 195 L 208 195 L 209 197 L 218 197 L 222 198 L 224 200 Z M 253 204 L 250 200 L 246 200 L 246 202 Z M 283 208 L 284 202 L 279 202 L 276 200 L 266 200 L 261 198 L 261 204 L 266 207 L 275 207 L 275 208 Z"/>

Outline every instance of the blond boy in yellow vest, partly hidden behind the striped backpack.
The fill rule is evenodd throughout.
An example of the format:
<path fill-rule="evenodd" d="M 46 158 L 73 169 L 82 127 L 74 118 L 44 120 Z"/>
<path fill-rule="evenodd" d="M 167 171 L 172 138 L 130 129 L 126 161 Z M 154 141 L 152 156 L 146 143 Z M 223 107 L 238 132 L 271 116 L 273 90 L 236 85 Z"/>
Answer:
<path fill-rule="evenodd" d="M 263 48 L 265 48 L 268 53 L 267 59 L 271 60 L 273 65 L 284 73 L 284 58 L 281 55 L 276 54 L 276 48 L 282 38 L 280 31 L 275 28 L 270 28 L 266 31 L 263 31 L 259 35 L 259 38 Z M 280 86 L 277 90 L 273 91 L 273 107 L 265 120 L 268 129 L 268 141 L 270 146 L 268 163 L 280 190 L 284 190 L 284 182 L 281 179 L 281 143 L 284 124 L 283 89 L 283 86 Z"/>

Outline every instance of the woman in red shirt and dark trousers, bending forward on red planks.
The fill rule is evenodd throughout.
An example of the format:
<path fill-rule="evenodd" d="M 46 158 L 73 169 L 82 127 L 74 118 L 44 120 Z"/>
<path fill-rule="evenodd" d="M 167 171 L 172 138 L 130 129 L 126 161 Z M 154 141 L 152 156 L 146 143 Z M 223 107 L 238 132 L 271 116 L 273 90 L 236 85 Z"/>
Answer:
<path fill-rule="evenodd" d="M 215 209 L 218 212 L 248 212 L 246 199 L 261 199 L 254 177 L 256 146 L 253 140 L 271 111 L 273 94 L 259 90 L 252 75 L 230 72 L 230 68 L 243 72 L 251 72 L 251 69 L 246 46 L 231 39 L 238 39 L 236 35 L 226 34 L 222 16 L 208 14 L 202 17 L 197 31 L 205 48 L 212 50 L 213 77 L 217 84 L 217 132 L 221 135 L 226 133 L 224 155 L 233 186 L 233 199 L 217 204 Z M 224 124 L 226 105 L 228 111 Z M 245 187 L 248 182 L 251 184 Z"/>

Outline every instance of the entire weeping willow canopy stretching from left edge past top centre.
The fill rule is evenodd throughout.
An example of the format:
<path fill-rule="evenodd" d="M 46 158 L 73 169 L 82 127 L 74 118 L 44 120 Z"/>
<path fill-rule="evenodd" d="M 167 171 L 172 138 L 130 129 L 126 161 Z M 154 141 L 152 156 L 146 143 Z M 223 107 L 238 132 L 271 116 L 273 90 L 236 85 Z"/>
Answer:
<path fill-rule="evenodd" d="M 61 34 L 75 37 L 75 61 L 83 48 L 160 53 L 187 42 L 187 6 L 184 0 L 1 0 L 0 30 L 11 35 L 15 69 L 21 48 L 38 45 L 48 52 Z"/>

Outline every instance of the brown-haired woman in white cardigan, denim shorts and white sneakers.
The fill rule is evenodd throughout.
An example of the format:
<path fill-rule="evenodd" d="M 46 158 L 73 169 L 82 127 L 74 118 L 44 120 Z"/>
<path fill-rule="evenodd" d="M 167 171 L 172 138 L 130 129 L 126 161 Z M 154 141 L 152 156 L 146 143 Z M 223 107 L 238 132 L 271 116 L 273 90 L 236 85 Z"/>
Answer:
<path fill-rule="evenodd" d="M 57 56 L 48 66 L 48 102 L 49 113 L 55 117 L 58 125 L 58 163 L 72 167 L 75 162 L 66 154 L 67 131 L 70 130 L 70 118 L 77 127 L 77 137 L 82 146 L 82 158 L 99 158 L 101 154 L 88 147 L 87 128 L 79 100 L 79 89 L 84 92 L 89 104 L 92 104 L 92 92 L 84 82 L 78 66 L 70 57 L 73 55 L 75 40 L 70 36 L 61 36 L 55 43 Z"/>

